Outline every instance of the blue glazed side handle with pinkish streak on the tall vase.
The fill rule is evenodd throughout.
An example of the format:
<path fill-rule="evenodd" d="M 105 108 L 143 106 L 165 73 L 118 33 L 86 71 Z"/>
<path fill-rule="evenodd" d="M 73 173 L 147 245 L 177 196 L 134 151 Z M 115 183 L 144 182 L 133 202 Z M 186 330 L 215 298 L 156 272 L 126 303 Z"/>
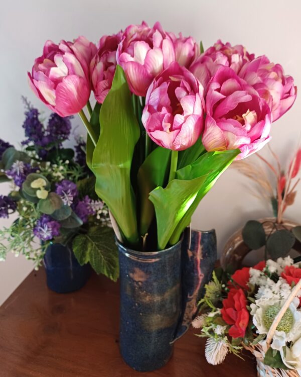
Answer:
<path fill-rule="evenodd" d="M 189 329 L 217 258 L 215 230 L 186 228 L 182 242 L 182 315 L 172 343 Z"/>

